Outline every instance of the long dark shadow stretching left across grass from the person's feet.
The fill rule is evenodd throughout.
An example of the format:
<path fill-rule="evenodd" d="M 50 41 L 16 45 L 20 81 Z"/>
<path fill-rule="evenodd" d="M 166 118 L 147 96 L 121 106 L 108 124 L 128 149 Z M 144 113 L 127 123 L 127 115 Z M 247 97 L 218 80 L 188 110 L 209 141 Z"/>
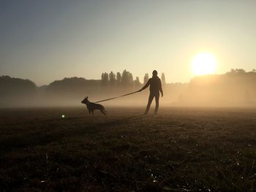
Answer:
<path fill-rule="evenodd" d="M 67 130 L 66 128 L 48 131 L 44 133 L 44 130 L 36 131 L 30 134 L 22 134 L 19 136 L 12 136 L 0 141 L 1 155 L 8 153 L 12 150 L 23 147 L 34 147 L 37 145 L 47 145 L 50 142 L 59 142 L 64 137 L 76 137 L 82 134 L 97 134 L 103 128 L 113 128 L 120 124 L 127 123 L 129 120 L 138 120 L 145 117 L 144 115 L 136 115 L 129 118 L 122 118 L 118 120 L 110 120 L 105 123 L 96 123 L 92 126 L 78 126 Z M 67 119 L 69 120 L 69 119 Z M 43 121 L 42 123 L 45 123 Z"/>

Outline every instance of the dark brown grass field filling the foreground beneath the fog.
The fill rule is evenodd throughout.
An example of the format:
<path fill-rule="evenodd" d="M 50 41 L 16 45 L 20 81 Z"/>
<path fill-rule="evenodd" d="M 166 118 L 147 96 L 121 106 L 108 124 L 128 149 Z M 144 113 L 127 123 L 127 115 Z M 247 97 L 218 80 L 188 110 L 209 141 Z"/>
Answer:
<path fill-rule="evenodd" d="M 143 110 L 0 110 L 1 191 L 256 191 L 256 110 Z"/>

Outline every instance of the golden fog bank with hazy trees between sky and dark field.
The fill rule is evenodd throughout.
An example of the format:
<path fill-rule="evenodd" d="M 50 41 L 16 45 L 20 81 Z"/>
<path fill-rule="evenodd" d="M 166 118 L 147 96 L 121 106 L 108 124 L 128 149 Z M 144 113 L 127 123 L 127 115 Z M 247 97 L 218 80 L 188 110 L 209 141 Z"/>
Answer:
<path fill-rule="evenodd" d="M 127 73 L 127 74 L 126 74 Z M 7 76 L 0 77 L 1 107 L 67 107 L 80 106 L 85 96 L 95 102 L 138 91 L 144 82 L 133 80 L 126 70 L 116 79 L 116 74 L 102 74 L 102 80 L 71 77 L 56 80 L 50 85 L 37 87 L 34 82 Z M 108 75 L 105 80 L 104 75 Z M 111 76 L 112 75 L 112 76 Z M 127 79 L 125 79 L 127 75 Z M 131 75 L 131 78 L 128 78 Z M 151 77 L 151 75 L 149 75 Z M 187 83 L 167 83 L 162 77 L 164 96 L 160 106 L 174 107 L 256 107 L 256 72 L 243 69 L 225 74 L 209 74 L 192 78 Z M 105 106 L 145 106 L 148 88 L 140 93 L 102 102 Z M 154 104 L 154 102 L 153 102 Z"/>

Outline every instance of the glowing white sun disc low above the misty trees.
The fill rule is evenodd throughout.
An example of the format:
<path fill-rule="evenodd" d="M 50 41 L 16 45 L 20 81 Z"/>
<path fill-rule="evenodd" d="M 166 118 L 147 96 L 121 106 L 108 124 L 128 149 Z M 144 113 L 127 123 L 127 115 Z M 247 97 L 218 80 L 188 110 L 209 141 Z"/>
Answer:
<path fill-rule="evenodd" d="M 216 58 L 211 53 L 199 53 L 192 60 L 192 71 L 195 75 L 214 74 Z"/>

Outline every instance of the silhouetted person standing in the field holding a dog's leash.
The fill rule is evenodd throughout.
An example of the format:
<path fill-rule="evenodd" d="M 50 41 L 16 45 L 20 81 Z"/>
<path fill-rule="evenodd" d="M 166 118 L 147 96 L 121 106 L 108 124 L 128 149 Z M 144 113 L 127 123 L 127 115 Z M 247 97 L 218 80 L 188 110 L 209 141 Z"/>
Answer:
<path fill-rule="evenodd" d="M 146 111 L 145 111 L 144 115 L 148 114 L 148 110 L 149 110 L 151 102 L 154 98 L 156 100 L 156 108 L 154 110 L 154 115 L 156 115 L 158 107 L 159 107 L 159 92 L 161 92 L 161 95 L 164 96 L 164 94 L 162 92 L 162 83 L 161 83 L 161 80 L 159 79 L 159 77 L 157 76 L 157 71 L 154 70 L 152 74 L 153 74 L 152 78 L 150 78 L 148 80 L 148 82 L 146 83 L 146 85 L 144 85 L 144 87 L 139 90 L 139 91 L 143 91 L 144 89 L 146 89 L 148 87 L 148 85 L 150 85 L 150 87 L 149 87 L 150 94 L 148 97 L 148 105 L 146 107 Z"/>

